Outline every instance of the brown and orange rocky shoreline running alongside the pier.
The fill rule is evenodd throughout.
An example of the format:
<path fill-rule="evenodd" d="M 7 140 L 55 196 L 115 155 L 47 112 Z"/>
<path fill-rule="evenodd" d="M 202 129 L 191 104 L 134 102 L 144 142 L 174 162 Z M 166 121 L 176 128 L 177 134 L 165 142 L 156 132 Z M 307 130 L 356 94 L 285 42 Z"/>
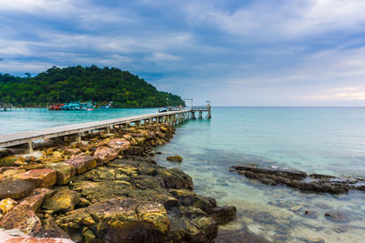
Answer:
<path fill-rule="evenodd" d="M 235 207 L 218 207 L 214 198 L 193 192 L 193 180 L 183 171 L 156 165 L 151 148 L 173 133 L 164 124 L 143 125 L 89 133 L 78 143 L 66 137 L 29 155 L 3 151 L 0 237 L 214 242 L 218 225 L 235 218 Z"/>

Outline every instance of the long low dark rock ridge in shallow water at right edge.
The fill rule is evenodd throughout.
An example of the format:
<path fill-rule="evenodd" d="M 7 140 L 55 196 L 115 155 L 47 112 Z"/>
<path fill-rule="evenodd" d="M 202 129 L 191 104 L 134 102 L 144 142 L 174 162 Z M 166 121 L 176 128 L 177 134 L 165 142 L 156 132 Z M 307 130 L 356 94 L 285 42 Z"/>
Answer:
<path fill-rule="evenodd" d="M 349 190 L 365 191 L 365 177 L 333 177 L 311 174 L 285 167 L 262 167 L 255 164 L 231 168 L 240 175 L 258 180 L 266 185 L 286 185 L 308 192 L 347 193 Z"/>

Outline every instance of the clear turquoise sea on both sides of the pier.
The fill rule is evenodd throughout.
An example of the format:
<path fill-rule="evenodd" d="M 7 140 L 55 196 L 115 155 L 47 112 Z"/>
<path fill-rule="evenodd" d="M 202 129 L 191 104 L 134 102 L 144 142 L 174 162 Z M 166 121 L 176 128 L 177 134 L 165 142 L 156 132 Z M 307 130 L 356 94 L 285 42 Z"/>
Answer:
<path fill-rule="evenodd" d="M 47 127 L 157 112 L 157 109 L 0 112 L 0 136 Z M 292 167 L 307 173 L 365 176 L 365 108 L 212 107 L 211 119 L 177 126 L 172 142 L 156 148 L 158 164 L 178 167 L 193 177 L 195 192 L 219 206 L 237 208 L 235 221 L 274 242 L 365 242 L 365 192 L 305 193 L 267 186 L 230 171 L 255 163 Z M 167 156 L 180 155 L 182 163 Z M 310 212 L 306 214 L 305 212 Z M 333 221 L 326 212 L 346 220 Z"/>

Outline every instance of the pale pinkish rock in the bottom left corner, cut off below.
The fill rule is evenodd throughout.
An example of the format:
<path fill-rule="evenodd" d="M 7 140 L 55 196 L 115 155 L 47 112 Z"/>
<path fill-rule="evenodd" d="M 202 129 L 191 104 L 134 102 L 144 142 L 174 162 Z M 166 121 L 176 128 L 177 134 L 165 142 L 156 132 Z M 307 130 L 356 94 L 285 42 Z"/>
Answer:
<path fill-rule="evenodd" d="M 67 238 L 34 238 L 29 236 L 13 237 L 0 229 L 0 238 L 5 243 L 73 243 L 74 241 Z"/>

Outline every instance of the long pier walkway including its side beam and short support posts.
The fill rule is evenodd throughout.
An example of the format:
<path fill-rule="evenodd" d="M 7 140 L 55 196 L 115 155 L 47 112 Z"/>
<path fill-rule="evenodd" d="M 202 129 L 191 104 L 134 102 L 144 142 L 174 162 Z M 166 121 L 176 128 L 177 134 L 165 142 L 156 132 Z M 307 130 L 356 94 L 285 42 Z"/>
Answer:
<path fill-rule="evenodd" d="M 62 127 L 51 127 L 47 129 L 22 132 L 16 134 L 5 134 L 0 136 L 0 147 L 15 147 L 26 146 L 27 152 L 33 152 L 33 143 L 35 141 L 51 139 L 64 136 L 74 136 L 76 141 L 81 140 L 82 133 L 91 132 L 95 130 L 105 129 L 107 133 L 110 128 L 114 127 L 130 127 L 130 125 L 165 123 L 172 126 L 181 124 L 190 118 L 192 111 L 190 109 L 183 109 L 179 111 L 169 111 L 163 113 L 146 114 L 139 116 L 121 117 L 117 119 L 95 121 L 82 124 L 73 124 Z"/>

